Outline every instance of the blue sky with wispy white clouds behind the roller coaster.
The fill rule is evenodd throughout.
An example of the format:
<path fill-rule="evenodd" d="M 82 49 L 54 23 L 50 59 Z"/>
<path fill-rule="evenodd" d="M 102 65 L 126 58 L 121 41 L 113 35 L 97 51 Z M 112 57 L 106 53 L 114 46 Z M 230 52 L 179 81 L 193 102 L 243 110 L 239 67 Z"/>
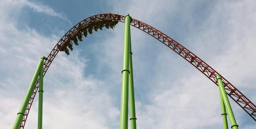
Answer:
<path fill-rule="evenodd" d="M 73 25 L 99 13 L 129 13 L 154 26 L 256 104 L 255 7 L 254 0 L 1 0 L 0 127 L 12 128 L 41 56 Z M 58 53 L 44 76 L 43 128 L 119 128 L 123 29 L 120 22 L 114 31 L 93 32 L 69 56 Z M 223 128 L 212 81 L 134 27 L 131 42 L 138 129 Z M 255 121 L 229 100 L 239 127 L 255 129 Z M 26 129 L 37 128 L 37 107 L 38 95 Z"/>

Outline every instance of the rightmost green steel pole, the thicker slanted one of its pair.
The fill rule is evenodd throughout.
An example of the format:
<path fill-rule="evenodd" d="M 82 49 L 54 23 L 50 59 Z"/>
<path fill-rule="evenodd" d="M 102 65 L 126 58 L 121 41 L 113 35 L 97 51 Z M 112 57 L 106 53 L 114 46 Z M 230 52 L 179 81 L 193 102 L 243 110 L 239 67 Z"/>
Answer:
<path fill-rule="evenodd" d="M 235 116 L 233 114 L 232 108 L 230 106 L 229 99 L 228 99 L 226 90 L 224 88 L 223 82 L 222 82 L 222 78 L 220 77 L 220 75 L 217 75 L 216 79 L 218 81 L 219 91 L 221 93 L 222 100 L 223 100 L 223 102 L 225 104 L 227 113 L 229 115 L 229 121 L 231 123 L 231 128 L 232 129 L 238 129 L 238 124 L 236 124 L 236 119 L 235 119 Z"/>

